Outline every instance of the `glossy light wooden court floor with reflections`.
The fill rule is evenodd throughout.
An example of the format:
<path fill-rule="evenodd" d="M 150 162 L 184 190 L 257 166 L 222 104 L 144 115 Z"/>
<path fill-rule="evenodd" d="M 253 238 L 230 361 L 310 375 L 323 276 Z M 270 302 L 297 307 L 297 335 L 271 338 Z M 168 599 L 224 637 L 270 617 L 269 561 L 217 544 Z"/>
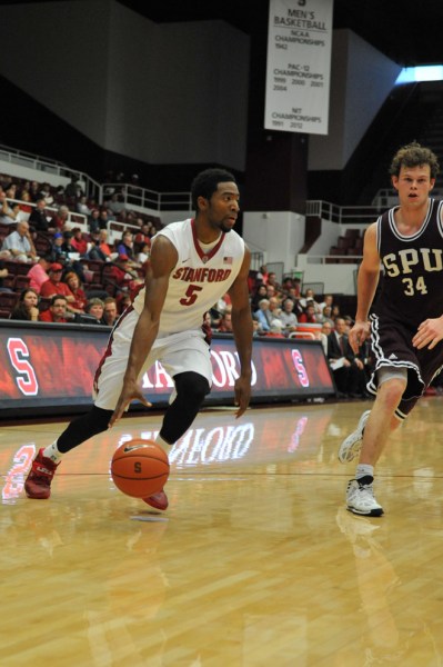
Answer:
<path fill-rule="evenodd" d="M 64 424 L 0 429 L 1 667 L 443 665 L 443 398 L 383 456 L 382 518 L 344 508 L 341 439 L 370 402 L 199 415 L 160 514 L 110 479 L 135 416 L 70 452 L 50 500 L 23 476 Z"/>

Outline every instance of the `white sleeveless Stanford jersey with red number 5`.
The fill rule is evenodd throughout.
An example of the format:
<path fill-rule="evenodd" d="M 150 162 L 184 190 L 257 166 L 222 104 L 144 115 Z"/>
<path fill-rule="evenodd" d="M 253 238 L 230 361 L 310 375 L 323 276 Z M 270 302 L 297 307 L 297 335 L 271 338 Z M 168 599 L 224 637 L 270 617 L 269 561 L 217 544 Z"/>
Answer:
<path fill-rule="evenodd" d="M 159 235 L 173 243 L 179 259 L 169 278 L 158 337 L 201 329 L 203 315 L 229 290 L 240 271 L 245 249 L 243 239 L 234 230 L 222 233 L 217 246 L 205 255 L 191 219 L 168 225 L 154 236 L 153 243 Z M 144 288 L 133 303 L 139 315 L 143 302 Z"/>

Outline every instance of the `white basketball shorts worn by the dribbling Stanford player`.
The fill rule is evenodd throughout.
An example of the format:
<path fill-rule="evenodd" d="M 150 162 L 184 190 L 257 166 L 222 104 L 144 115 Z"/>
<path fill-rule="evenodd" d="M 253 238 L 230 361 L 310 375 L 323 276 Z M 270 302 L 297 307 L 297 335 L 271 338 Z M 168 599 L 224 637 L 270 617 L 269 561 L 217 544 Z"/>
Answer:
<path fill-rule="evenodd" d="M 94 378 L 92 396 L 98 408 L 103 410 L 115 409 L 123 386 L 129 349 L 138 320 L 139 313 L 131 310 L 119 320 L 110 336 L 108 348 Z M 155 361 L 161 362 L 171 378 L 179 372 L 193 371 L 205 377 L 209 385 L 212 385 L 211 356 L 203 331 L 195 329 L 158 338 L 143 364 L 139 381 Z"/>

